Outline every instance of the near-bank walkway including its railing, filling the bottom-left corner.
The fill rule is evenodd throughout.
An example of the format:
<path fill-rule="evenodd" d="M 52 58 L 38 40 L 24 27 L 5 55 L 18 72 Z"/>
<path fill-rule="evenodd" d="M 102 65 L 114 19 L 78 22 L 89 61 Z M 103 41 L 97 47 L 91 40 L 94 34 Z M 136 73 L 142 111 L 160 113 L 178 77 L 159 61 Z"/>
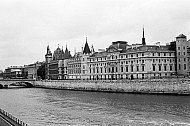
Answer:
<path fill-rule="evenodd" d="M 28 125 L 0 108 L 0 126 L 28 126 Z"/>

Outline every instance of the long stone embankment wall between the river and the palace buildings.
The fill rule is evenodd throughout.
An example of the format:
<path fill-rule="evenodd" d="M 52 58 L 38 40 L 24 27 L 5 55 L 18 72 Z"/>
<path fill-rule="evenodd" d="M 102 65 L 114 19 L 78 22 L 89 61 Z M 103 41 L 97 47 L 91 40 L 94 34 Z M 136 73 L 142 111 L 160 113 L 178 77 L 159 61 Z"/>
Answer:
<path fill-rule="evenodd" d="M 48 80 L 36 81 L 36 87 L 103 92 L 190 95 L 190 79 L 143 80 Z"/>

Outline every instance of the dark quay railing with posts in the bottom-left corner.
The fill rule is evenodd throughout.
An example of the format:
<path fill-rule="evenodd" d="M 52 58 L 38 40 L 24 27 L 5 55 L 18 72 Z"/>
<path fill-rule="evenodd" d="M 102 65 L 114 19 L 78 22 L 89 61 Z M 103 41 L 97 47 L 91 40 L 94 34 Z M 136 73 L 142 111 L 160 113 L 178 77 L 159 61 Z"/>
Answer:
<path fill-rule="evenodd" d="M 28 126 L 28 124 L 24 123 L 22 120 L 16 118 L 15 116 L 11 115 L 10 113 L 6 112 L 5 110 L 0 108 L 0 117 L 5 119 L 7 122 L 12 124 L 13 126 Z"/>

